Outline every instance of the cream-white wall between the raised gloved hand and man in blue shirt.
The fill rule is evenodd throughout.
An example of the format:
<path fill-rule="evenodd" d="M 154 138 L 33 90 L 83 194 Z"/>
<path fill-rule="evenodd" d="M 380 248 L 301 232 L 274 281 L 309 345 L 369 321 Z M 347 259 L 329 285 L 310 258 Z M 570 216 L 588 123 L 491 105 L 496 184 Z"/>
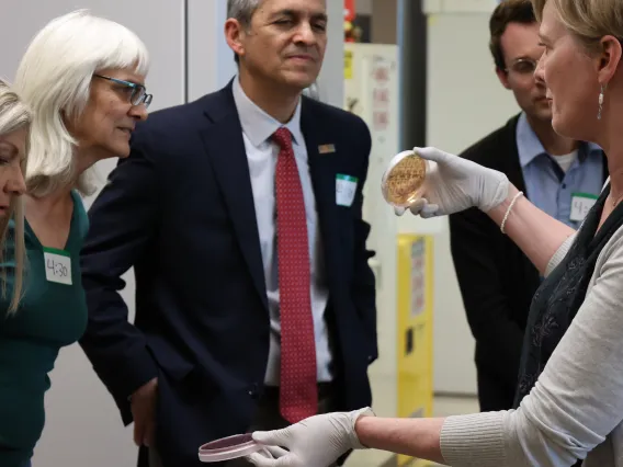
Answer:
<path fill-rule="evenodd" d="M 478 1 L 474 8 L 480 13 L 446 10 L 429 16 L 427 145 L 454 153 L 519 111 L 510 91 L 499 83 L 488 50 L 494 1 L 486 8 Z M 448 221 L 441 221 L 434 264 L 434 389 L 476 394 L 474 339 L 452 264 Z"/>

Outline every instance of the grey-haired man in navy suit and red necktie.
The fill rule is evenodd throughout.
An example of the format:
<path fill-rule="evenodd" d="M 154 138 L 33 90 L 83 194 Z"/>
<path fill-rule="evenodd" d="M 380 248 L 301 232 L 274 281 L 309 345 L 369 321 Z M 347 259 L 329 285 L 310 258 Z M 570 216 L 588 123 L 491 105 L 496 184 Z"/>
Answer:
<path fill-rule="evenodd" d="M 326 2 L 228 8 L 238 75 L 138 125 L 90 209 L 81 345 L 144 466 L 197 467 L 212 440 L 371 403 L 370 132 L 301 95 Z M 117 293 L 131 266 L 134 324 Z"/>

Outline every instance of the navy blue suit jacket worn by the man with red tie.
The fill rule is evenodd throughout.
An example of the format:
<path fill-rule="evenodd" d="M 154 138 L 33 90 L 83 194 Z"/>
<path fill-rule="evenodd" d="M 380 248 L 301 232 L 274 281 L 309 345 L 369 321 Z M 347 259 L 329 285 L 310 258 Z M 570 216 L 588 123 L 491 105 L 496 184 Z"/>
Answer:
<path fill-rule="evenodd" d="M 358 116 L 307 98 L 301 122 L 325 249 L 339 410 L 352 410 L 371 405 L 367 366 L 377 356 L 373 253 L 362 220 L 371 137 Z M 336 151 L 319 153 L 327 144 Z M 339 173 L 359 178 L 350 207 L 336 203 Z M 89 324 L 80 344 L 126 424 L 128 396 L 159 378 L 156 443 L 165 466 L 197 467 L 201 444 L 248 430 L 269 356 L 260 242 L 231 83 L 139 124 L 129 158 L 111 173 L 89 217 L 81 261 Z M 118 294 L 131 266 L 134 324 Z"/>

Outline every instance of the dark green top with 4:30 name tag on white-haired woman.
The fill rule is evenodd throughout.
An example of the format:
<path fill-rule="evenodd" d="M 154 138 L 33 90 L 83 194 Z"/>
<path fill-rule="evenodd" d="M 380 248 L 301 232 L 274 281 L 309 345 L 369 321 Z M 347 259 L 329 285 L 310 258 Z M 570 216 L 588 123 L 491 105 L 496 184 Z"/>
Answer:
<path fill-rule="evenodd" d="M 14 224 L 5 243 L 7 294 L 0 296 L 0 466 L 22 467 L 33 455 L 45 424 L 48 373 L 60 348 L 76 342 L 87 327 L 80 277 L 80 250 L 89 218 L 78 193 L 64 250 L 41 244 L 25 223 L 26 272 L 18 312 L 8 316 L 14 272 Z M 68 446 L 69 447 L 69 446 Z"/>

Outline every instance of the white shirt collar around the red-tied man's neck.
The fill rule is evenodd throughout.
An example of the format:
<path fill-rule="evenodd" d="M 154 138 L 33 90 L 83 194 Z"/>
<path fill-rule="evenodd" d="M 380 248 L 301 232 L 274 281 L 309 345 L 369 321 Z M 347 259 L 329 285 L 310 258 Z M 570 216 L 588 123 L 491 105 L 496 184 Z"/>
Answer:
<path fill-rule="evenodd" d="M 245 94 L 238 76 L 234 79 L 233 92 L 242 133 L 247 135 L 247 138 L 253 146 L 260 146 L 282 126 L 290 129 L 293 144 L 301 145 L 303 143 L 303 134 L 301 133 L 301 99 L 290 122 L 282 124 L 261 110 Z"/>

